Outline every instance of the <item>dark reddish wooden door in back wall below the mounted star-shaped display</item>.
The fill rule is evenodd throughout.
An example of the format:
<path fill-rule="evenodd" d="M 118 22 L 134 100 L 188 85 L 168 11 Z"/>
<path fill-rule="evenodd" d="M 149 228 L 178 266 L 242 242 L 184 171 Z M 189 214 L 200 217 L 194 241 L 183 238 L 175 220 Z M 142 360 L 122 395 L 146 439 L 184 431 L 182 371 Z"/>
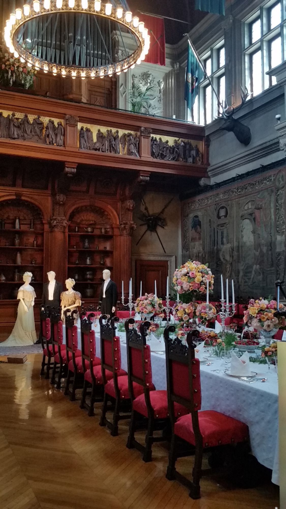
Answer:
<path fill-rule="evenodd" d="M 155 279 L 157 282 L 157 296 L 166 295 L 168 262 L 164 260 L 136 260 L 136 298 L 140 295 L 140 281 L 142 281 L 142 295 L 154 293 Z"/>

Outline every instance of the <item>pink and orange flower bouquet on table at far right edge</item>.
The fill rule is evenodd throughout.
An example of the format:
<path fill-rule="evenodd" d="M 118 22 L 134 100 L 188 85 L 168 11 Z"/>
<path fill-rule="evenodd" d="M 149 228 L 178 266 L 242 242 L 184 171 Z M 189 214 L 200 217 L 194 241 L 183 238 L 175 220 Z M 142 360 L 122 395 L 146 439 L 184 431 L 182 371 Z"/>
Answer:
<path fill-rule="evenodd" d="M 245 324 L 254 327 L 254 329 L 271 332 L 284 324 L 284 318 L 278 319 L 274 316 L 276 309 L 276 300 L 269 301 L 262 297 L 257 300 L 250 299 L 248 307 L 244 311 L 243 321 Z M 279 309 L 283 309 L 282 304 L 279 304 Z"/>

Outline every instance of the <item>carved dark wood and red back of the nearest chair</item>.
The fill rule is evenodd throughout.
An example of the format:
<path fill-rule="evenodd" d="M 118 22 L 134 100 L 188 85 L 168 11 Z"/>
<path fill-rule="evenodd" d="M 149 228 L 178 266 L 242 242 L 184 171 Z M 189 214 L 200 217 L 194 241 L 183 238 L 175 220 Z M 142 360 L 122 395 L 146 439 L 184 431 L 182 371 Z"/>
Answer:
<path fill-rule="evenodd" d="M 166 374 L 168 409 L 172 428 L 174 430 L 175 409 L 174 403 L 186 407 L 192 415 L 193 430 L 196 438 L 201 437 L 198 426 L 198 410 L 201 409 L 201 378 L 199 372 L 199 360 L 195 358 L 194 343 L 199 335 L 198 330 L 192 330 L 187 335 L 187 345 L 175 337 L 169 337 L 170 332 L 175 332 L 174 325 L 169 325 L 164 330 L 166 349 Z"/>

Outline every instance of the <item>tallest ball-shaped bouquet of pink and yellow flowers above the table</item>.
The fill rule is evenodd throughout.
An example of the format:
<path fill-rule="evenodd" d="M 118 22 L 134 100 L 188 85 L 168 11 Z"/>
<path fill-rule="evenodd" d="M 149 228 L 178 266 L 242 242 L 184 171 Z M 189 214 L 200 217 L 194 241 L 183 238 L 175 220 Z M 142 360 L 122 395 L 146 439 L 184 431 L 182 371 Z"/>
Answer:
<path fill-rule="evenodd" d="M 181 300 L 190 302 L 198 294 L 207 293 L 207 281 L 209 291 L 214 286 L 214 276 L 208 267 L 201 262 L 189 260 L 174 272 L 174 289 L 181 296 Z"/>

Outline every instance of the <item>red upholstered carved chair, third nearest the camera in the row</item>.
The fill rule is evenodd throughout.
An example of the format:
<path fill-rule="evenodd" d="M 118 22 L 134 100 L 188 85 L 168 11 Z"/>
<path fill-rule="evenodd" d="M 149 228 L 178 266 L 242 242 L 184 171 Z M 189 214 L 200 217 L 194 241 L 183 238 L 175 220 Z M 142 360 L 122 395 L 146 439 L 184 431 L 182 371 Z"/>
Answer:
<path fill-rule="evenodd" d="M 121 390 L 125 387 L 128 391 L 128 377 L 126 371 L 121 369 L 120 339 L 115 335 L 115 322 L 119 322 L 118 317 L 107 321 L 107 316 L 103 315 L 99 319 L 101 370 L 104 384 L 104 398 L 99 424 L 100 426 L 107 426 L 113 437 L 118 435 L 118 422 L 122 419 L 130 419 L 131 416 L 129 393 L 127 392 L 126 398 L 126 390 Z M 111 379 L 109 378 L 110 373 L 112 375 Z M 112 422 L 106 418 L 108 402 L 114 408 Z M 128 413 L 126 414 L 126 412 Z"/>

